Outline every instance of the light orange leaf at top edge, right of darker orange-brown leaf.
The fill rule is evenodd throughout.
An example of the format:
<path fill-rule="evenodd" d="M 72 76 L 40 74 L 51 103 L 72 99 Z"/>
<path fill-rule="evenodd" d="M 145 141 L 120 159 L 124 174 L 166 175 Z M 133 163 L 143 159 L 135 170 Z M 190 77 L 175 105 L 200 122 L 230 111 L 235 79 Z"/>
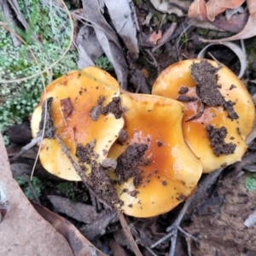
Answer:
<path fill-rule="evenodd" d="M 226 9 L 236 9 L 245 0 L 209 0 L 206 4 L 208 20 L 213 21 L 215 17 L 223 13 Z"/>

